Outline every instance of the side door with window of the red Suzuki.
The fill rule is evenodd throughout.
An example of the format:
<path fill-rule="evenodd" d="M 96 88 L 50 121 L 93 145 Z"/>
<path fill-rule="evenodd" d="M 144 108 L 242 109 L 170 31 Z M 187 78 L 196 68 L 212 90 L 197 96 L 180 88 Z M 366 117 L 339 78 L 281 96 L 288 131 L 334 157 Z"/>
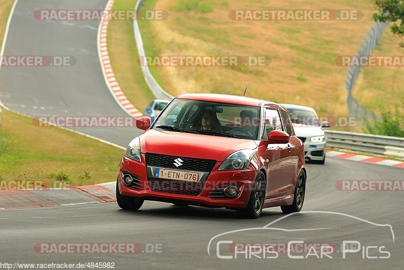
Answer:
<path fill-rule="evenodd" d="M 286 131 L 278 109 L 265 107 L 264 112 L 264 138 L 268 139 L 269 133 L 275 129 Z M 289 143 L 267 145 L 267 199 L 284 196 L 292 189 L 294 162 L 291 158 L 291 148 Z"/>

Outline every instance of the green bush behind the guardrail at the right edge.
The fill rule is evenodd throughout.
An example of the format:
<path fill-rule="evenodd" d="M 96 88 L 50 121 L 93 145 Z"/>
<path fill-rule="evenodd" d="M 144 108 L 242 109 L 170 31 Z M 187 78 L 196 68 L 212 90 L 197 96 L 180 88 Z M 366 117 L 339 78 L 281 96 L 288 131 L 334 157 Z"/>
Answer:
<path fill-rule="evenodd" d="M 366 123 L 366 129 L 372 134 L 404 137 L 403 120 L 404 116 L 395 108 L 394 114 L 391 111 L 382 112 L 382 120 L 376 121 L 374 126 Z"/>

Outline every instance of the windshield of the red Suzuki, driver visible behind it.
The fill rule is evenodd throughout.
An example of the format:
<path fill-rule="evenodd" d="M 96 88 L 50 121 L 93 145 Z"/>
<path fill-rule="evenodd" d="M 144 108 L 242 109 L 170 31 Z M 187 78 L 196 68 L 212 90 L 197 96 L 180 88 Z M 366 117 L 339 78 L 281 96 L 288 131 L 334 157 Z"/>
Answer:
<path fill-rule="evenodd" d="M 175 99 L 152 128 L 255 140 L 259 107 Z"/>

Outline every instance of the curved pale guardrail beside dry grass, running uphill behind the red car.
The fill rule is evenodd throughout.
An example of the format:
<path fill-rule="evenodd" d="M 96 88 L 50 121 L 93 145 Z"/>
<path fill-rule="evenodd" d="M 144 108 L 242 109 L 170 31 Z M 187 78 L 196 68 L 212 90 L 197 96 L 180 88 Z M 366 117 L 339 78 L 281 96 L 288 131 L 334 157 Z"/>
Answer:
<path fill-rule="evenodd" d="M 142 3 L 143 3 L 143 0 L 137 1 L 136 6 L 135 6 L 135 11 L 139 10 L 139 7 Z M 146 53 L 144 52 L 143 39 L 140 34 L 139 24 L 137 23 L 136 19 L 133 20 L 133 31 L 134 31 L 134 35 L 135 35 L 136 47 L 137 47 L 137 52 L 139 54 L 139 57 L 145 56 Z M 148 68 L 147 65 L 142 65 L 141 69 L 143 72 L 144 80 L 146 81 L 148 87 L 150 88 L 151 93 L 153 93 L 153 95 L 155 95 L 156 99 L 159 99 L 159 100 L 172 100 L 173 99 L 173 96 L 171 96 L 166 91 L 164 91 L 164 89 L 156 81 L 156 79 L 153 77 L 153 75 L 151 75 L 150 69 Z"/>

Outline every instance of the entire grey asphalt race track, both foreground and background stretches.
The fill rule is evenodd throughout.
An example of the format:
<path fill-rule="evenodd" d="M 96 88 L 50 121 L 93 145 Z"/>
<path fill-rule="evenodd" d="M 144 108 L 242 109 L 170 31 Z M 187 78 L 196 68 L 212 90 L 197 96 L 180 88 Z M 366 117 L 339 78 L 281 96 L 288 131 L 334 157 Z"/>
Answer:
<path fill-rule="evenodd" d="M 37 9 L 103 9 L 103 1 L 20 0 L 11 25 L 5 55 L 71 55 L 73 67 L 3 67 L 0 99 L 9 108 L 31 116 L 127 116 L 110 94 L 100 68 L 97 21 L 42 22 Z M 91 136 L 126 146 L 141 132 L 128 128 L 77 129 Z M 120 157 L 117 157 L 119 159 Z M 181 207 L 146 201 L 139 211 L 120 210 L 115 202 L 74 206 L 0 210 L 0 261 L 20 263 L 114 262 L 116 269 L 138 268 L 401 268 L 404 262 L 402 191 L 339 191 L 339 180 L 404 180 L 404 169 L 327 158 L 325 165 L 308 164 L 304 211 L 344 213 L 389 227 L 332 213 L 302 212 L 275 224 L 289 231 L 262 231 L 285 216 L 279 207 L 264 209 L 258 219 L 238 219 L 234 211 Z M 110 179 L 114 181 L 114 179 Z M 388 259 L 363 258 L 366 248 L 345 259 L 340 250 L 328 257 L 223 259 L 217 256 L 218 234 L 256 228 L 229 235 L 225 240 L 285 243 L 332 242 L 371 239 L 367 246 L 385 246 Z M 300 231 L 298 230 L 300 229 Z M 323 229 L 323 230 L 308 230 Z M 301 231 L 305 230 L 305 231 Z M 307 230 L 307 231 L 306 231 Z M 292 237 L 292 238 L 290 238 Z M 216 241 L 216 242 L 215 242 Z M 161 245 L 162 252 L 137 254 L 42 254 L 37 243 L 140 243 Z M 365 251 L 363 251 L 365 250 Z M 228 250 L 227 250 L 228 251 Z M 364 253 L 363 253 L 364 252 Z M 220 250 L 220 254 L 226 250 Z M 367 254 L 366 255 L 370 255 Z M 372 255 L 374 255 L 372 253 Z M 378 254 L 381 256 L 382 254 Z M 384 255 L 384 254 L 383 254 Z"/>

